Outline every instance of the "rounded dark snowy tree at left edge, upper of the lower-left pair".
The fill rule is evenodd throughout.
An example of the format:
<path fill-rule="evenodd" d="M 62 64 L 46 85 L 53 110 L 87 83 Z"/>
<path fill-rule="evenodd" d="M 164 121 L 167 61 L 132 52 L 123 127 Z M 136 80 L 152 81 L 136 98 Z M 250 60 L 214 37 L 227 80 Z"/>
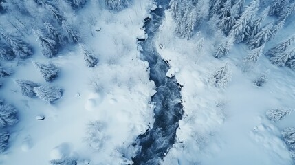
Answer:
<path fill-rule="evenodd" d="M 18 122 L 17 109 L 11 104 L 0 105 L 0 128 L 12 126 Z"/>

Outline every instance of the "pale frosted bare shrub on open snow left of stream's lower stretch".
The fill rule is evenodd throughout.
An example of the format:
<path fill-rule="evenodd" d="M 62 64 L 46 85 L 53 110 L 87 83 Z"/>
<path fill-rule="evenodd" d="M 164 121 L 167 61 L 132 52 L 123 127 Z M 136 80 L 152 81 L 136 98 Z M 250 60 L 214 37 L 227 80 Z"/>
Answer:
<path fill-rule="evenodd" d="M 103 133 L 104 129 L 105 124 L 99 121 L 93 121 L 87 124 L 85 142 L 87 142 L 94 151 L 99 151 L 107 139 L 106 135 Z"/>

